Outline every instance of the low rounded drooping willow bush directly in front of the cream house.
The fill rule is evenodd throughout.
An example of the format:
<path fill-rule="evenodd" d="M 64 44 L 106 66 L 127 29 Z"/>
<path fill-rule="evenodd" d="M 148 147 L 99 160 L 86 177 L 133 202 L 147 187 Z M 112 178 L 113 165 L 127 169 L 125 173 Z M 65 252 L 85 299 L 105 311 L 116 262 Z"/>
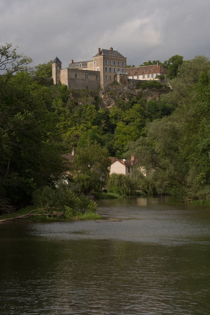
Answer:
<path fill-rule="evenodd" d="M 108 192 L 120 195 L 133 196 L 136 192 L 135 181 L 124 174 L 112 173 L 107 181 Z"/>

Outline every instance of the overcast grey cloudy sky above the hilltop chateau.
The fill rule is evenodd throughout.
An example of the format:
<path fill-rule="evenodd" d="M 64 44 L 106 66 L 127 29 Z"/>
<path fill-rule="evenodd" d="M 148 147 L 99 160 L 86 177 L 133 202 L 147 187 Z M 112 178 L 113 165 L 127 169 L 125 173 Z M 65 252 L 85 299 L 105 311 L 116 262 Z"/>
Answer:
<path fill-rule="evenodd" d="M 13 43 L 33 66 L 92 60 L 112 46 L 127 65 L 210 57 L 209 0 L 1 0 L 0 46 Z"/>

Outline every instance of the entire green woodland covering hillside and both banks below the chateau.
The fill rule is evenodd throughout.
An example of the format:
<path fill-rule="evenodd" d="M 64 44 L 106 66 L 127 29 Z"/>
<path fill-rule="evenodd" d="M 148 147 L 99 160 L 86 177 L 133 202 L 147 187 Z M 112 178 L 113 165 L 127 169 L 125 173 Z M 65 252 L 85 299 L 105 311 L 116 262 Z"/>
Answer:
<path fill-rule="evenodd" d="M 122 95 L 118 83 L 112 83 L 107 91 L 114 100 L 110 108 L 101 105 L 99 91 L 37 82 L 36 76 L 50 76 L 51 63 L 35 69 L 29 68 L 30 63 L 11 44 L 0 47 L 2 207 L 29 205 L 42 192 L 53 195 L 64 174 L 74 193 L 100 191 L 109 156 L 130 158 L 131 154 L 137 161 L 131 179 L 136 189 L 181 199 L 210 199 L 210 62 L 206 57 L 182 60 L 169 81 L 171 90 L 159 99 L 146 100 L 144 89 L 152 88 L 150 82 Z M 77 154 L 69 165 L 63 156 L 72 147 Z"/>

